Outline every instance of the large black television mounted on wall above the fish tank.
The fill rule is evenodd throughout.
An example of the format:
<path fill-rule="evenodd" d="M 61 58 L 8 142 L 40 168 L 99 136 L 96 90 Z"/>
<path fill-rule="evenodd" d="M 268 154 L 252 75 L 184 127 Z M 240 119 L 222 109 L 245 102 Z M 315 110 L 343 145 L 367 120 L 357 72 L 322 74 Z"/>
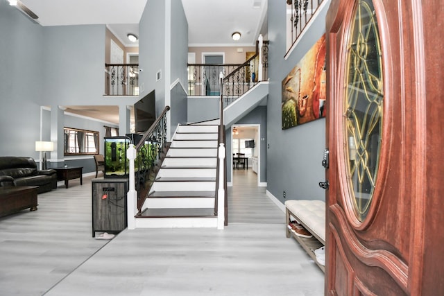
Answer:
<path fill-rule="evenodd" d="M 134 104 L 135 132 L 144 133 L 155 121 L 155 91 Z"/>

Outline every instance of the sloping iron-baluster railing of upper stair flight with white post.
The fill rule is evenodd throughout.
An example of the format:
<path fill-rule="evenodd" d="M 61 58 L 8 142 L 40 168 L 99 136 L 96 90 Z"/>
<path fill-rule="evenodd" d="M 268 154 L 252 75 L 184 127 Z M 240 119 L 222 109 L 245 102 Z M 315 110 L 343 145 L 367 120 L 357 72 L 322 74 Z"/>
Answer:
<path fill-rule="evenodd" d="M 260 81 L 268 80 L 268 41 L 262 40 L 262 35 L 256 42 L 256 53 L 237 69 L 234 69 L 223 79 L 224 107 L 227 107 L 239 96 Z"/>

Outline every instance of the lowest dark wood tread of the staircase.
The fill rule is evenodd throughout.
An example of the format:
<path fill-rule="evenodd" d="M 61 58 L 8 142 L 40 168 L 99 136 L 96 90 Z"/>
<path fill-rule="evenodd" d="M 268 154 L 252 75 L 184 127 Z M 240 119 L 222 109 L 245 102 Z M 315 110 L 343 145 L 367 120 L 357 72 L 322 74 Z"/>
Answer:
<path fill-rule="evenodd" d="M 212 208 L 171 208 L 171 209 L 146 209 L 137 218 L 196 218 L 215 217 Z"/>

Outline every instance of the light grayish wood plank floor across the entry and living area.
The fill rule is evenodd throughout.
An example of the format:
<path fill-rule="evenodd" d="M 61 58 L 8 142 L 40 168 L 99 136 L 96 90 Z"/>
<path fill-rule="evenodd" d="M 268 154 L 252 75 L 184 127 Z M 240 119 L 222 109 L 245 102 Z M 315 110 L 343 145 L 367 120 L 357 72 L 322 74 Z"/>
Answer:
<path fill-rule="evenodd" d="M 229 225 L 92 238 L 91 178 L 0 218 L 0 295 L 323 295 L 324 275 L 284 233 L 284 213 L 234 171 Z"/>

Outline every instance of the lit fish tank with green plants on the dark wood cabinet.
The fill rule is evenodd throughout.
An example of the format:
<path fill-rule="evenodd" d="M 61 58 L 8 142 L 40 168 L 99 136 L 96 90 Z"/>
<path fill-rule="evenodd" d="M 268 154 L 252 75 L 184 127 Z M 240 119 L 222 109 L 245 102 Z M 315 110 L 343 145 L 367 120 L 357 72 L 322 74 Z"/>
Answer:
<path fill-rule="evenodd" d="M 130 162 L 126 157 L 130 143 L 137 144 L 142 139 L 141 134 L 126 134 L 126 137 L 105 137 L 105 173 L 104 177 L 128 177 Z M 145 141 L 137 151 L 135 172 L 150 171 L 157 161 L 158 145 L 155 141 Z"/>

